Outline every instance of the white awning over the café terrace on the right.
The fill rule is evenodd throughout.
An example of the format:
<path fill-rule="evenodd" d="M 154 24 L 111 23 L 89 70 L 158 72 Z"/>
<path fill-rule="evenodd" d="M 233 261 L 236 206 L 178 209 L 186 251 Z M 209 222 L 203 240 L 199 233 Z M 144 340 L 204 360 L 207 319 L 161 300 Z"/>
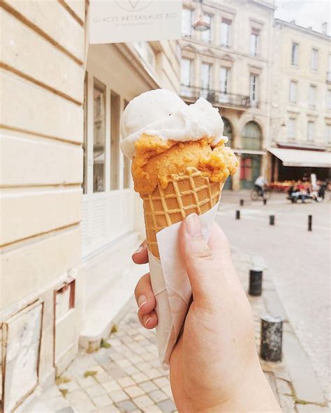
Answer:
<path fill-rule="evenodd" d="M 321 151 L 300 151 L 298 149 L 269 148 L 284 166 L 331 167 L 331 153 Z"/>

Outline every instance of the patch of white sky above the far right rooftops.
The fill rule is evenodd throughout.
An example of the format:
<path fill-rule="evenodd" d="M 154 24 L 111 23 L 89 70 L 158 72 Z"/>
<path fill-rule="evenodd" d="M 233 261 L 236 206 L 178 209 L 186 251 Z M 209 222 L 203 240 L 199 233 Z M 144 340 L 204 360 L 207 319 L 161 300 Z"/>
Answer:
<path fill-rule="evenodd" d="M 328 22 L 330 36 L 330 0 L 275 0 L 277 10 L 274 17 L 277 19 L 295 20 L 302 27 L 313 27 L 313 30 L 322 31 L 322 23 Z"/>

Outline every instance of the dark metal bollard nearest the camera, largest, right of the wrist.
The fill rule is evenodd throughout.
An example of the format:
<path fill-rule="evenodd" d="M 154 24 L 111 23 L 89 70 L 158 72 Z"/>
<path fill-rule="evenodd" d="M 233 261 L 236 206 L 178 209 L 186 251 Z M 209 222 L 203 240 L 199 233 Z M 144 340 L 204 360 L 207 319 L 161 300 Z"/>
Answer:
<path fill-rule="evenodd" d="M 265 361 L 281 361 L 283 320 L 279 316 L 261 316 L 260 357 Z"/>

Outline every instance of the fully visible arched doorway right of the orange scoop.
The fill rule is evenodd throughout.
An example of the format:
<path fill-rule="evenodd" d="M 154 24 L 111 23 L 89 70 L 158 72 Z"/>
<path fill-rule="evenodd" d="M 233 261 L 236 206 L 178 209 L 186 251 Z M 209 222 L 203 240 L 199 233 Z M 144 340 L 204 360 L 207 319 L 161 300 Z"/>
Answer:
<path fill-rule="evenodd" d="M 262 135 L 257 123 L 246 123 L 242 130 L 242 149 L 260 151 Z M 242 153 L 240 160 L 240 188 L 251 189 L 260 174 L 261 156 L 252 153 Z"/>

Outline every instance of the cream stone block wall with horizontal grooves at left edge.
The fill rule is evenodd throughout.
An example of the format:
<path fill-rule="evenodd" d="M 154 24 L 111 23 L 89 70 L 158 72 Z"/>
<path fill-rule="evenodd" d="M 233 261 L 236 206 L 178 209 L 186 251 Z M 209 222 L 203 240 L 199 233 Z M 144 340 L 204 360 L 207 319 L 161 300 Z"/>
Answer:
<path fill-rule="evenodd" d="M 0 7 L 1 400 L 11 412 L 77 352 L 85 3 Z M 15 354 L 29 361 L 23 388 Z"/>

